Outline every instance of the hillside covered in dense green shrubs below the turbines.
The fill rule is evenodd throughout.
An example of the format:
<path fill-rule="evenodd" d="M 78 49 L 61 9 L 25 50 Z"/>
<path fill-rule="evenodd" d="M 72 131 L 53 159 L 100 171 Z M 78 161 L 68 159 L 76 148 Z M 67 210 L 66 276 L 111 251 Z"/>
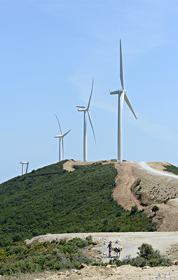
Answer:
<path fill-rule="evenodd" d="M 64 162 L 0 184 L 0 246 L 46 233 L 156 230 L 142 211 L 125 211 L 113 200 L 113 164 L 68 172 Z"/>

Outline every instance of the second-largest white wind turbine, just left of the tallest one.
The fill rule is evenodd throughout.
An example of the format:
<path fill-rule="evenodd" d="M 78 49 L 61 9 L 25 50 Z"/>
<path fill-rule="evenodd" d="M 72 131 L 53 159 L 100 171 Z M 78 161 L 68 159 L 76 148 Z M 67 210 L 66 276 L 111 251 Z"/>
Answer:
<path fill-rule="evenodd" d="M 94 86 L 94 78 L 93 78 L 93 83 L 92 83 L 92 91 L 93 91 L 93 86 Z M 93 133 L 94 133 L 94 138 L 95 138 L 95 132 L 94 132 L 93 124 L 92 124 L 92 119 L 91 119 L 91 116 L 90 116 L 90 101 L 91 101 L 91 97 L 92 97 L 92 91 L 91 91 L 91 95 L 90 95 L 90 99 L 89 99 L 87 108 L 84 107 L 84 106 L 76 106 L 79 112 L 84 112 L 84 126 L 83 126 L 83 161 L 87 161 L 86 111 L 88 112 L 88 118 L 89 118 L 89 120 L 90 120 L 92 129 L 93 129 Z M 95 144 L 96 144 L 96 138 L 95 138 Z"/>

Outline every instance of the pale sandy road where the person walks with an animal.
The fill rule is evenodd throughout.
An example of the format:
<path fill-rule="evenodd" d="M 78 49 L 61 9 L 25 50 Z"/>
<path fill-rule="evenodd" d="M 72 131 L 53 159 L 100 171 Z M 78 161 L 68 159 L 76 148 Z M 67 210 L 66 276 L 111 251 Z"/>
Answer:
<path fill-rule="evenodd" d="M 123 245 L 124 250 L 121 253 L 121 260 L 128 255 L 131 257 L 137 256 L 138 246 L 142 243 L 149 243 L 154 249 L 160 250 L 161 253 L 165 253 L 171 244 L 178 242 L 178 232 L 126 232 L 126 233 L 66 233 L 66 234 L 48 234 L 41 235 L 32 238 L 26 243 L 45 242 L 60 239 L 72 239 L 75 237 L 85 238 L 86 236 L 93 236 L 93 240 L 98 243 L 97 250 L 100 250 L 102 254 L 99 254 L 103 262 L 109 262 L 107 245 L 109 241 L 112 241 L 113 246 Z M 121 240 L 121 241 L 119 241 Z M 107 255 L 103 255 L 106 253 Z M 112 257 L 114 253 L 112 253 Z M 178 256 L 177 256 L 178 259 Z M 178 278 L 177 278 L 178 280 Z"/>

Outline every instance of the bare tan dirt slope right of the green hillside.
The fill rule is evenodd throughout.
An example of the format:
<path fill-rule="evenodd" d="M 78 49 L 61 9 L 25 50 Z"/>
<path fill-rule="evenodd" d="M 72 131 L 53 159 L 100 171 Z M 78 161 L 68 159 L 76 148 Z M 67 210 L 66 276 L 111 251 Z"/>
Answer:
<path fill-rule="evenodd" d="M 111 163 L 108 161 L 98 161 L 102 164 Z M 88 165 L 94 162 L 74 162 L 68 160 L 64 164 L 64 169 L 73 171 L 73 165 Z M 117 170 L 115 178 L 116 187 L 113 191 L 113 198 L 118 204 L 123 206 L 124 209 L 131 210 L 132 206 L 138 205 L 138 209 L 144 208 L 147 215 L 152 215 L 151 209 L 154 205 L 159 207 L 153 221 L 158 223 L 158 231 L 178 231 L 178 179 L 165 177 L 154 174 L 152 172 L 142 169 L 137 162 L 124 161 L 112 162 Z M 164 166 L 170 165 L 168 162 L 147 162 L 153 169 L 164 172 Z M 164 172 L 169 174 L 168 172 Z M 178 176 L 177 176 L 178 178 Z M 135 195 L 134 186 L 138 180 L 140 181 L 143 203 L 149 203 L 148 206 L 142 206 L 138 195 Z M 137 188 L 138 189 L 138 188 Z M 169 200 L 166 204 L 158 203 L 156 200 L 166 200 L 168 198 L 175 198 Z"/>

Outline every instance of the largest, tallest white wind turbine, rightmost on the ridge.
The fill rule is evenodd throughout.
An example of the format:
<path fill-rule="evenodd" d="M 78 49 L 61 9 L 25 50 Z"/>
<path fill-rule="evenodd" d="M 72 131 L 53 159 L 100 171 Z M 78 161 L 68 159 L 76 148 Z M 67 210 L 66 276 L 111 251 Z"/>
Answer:
<path fill-rule="evenodd" d="M 123 161 L 123 137 L 122 137 L 122 110 L 123 110 L 123 102 L 124 99 L 131 109 L 132 113 L 135 116 L 134 110 L 129 102 L 129 99 L 126 95 L 126 90 L 124 87 L 124 71 L 123 71 L 123 58 L 122 58 L 122 47 L 121 47 L 121 40 L 120 40 L 120 79 L 122 90 L 117 91 L 110 91 L 110 94 L 118 94 L 118 132 L 117 132 L 117 161 Z M 136 118 L 136 116 L 135 116 Z M 137 119 L 137 118 L 136 118 Z"/>

